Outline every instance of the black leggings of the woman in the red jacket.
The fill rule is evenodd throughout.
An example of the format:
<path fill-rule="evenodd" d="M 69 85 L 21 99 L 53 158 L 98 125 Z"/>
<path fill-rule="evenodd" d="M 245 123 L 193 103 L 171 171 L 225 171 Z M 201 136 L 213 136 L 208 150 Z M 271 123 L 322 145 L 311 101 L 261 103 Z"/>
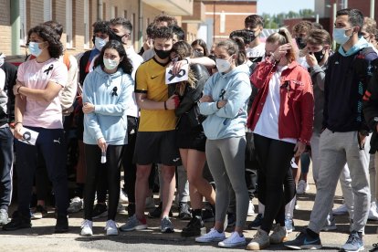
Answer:
<path fill-rule="evenodd" d="M 261 229 L 270 231 L 273 221 L 285 225 L 285 205 L 295 194 L 290 160 L 294 144 L 254 134 L 258 170 L 258 200 L 265 205 Z M 284 193 L 284 184 L 285 193 Z"/>

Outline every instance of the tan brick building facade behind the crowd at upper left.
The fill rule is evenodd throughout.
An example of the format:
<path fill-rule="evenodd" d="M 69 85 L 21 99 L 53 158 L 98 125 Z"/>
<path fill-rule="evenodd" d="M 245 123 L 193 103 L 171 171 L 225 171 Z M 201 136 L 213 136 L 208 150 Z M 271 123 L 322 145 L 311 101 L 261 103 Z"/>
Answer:
<path fill-rule="evenodd" d="M 163 12 L 176 16 L 182 25 L 181 16 L 193 15 L 193 0 L 0 0 L 0 52 L 6 56 L 24 55 L 27 31 L 55 20 L 64 26 L 64 46 L 77 54 L 93 47 L 94 22 L 118 16 L 131 21 L 131 44 L 139 49 L 146 27 Z M 191 37 L 195 36 L 192 30 Z"/>

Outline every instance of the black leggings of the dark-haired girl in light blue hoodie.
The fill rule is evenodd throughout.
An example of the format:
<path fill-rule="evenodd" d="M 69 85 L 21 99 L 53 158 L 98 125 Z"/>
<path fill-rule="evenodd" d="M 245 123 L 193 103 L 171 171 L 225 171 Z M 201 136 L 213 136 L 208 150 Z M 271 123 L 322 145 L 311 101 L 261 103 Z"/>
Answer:
<path fill-rule="evenodd" d="M 123 145 L 109 145 L 106 152 L 107 163 L 100 163 L 101 151 L 98 145 L 84 144 L 87 177 L 84 188 L 84 219 L 92 220 L 96 187 L 101 180 L 108 180 L 109 201 L 108 220 L 115 220 L 120 200 L 121 157 Z M 107 176 L 101 174 L 106 173 Z"/>

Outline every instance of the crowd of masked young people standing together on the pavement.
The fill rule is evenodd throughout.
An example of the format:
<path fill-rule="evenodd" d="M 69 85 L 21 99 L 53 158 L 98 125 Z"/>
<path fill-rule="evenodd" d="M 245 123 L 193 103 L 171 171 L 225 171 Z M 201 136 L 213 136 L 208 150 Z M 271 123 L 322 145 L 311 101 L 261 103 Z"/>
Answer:
<path fill-rule="evenodd" d="M 146 229 L 151 205 L 148 216 L 172 233 L 175 202 L 179 218 L 189 220 L 181 235 L 198 243 L 318 249 L 320 231 L 336 229 L 333 215 L 347 211 L 351 233 L 341 249 L 363 249 L 367 220 L 378 220 L 372 18 L 341 9 L 332 36 L 318 23 L 300 21 L 291 33 L 282 27 L 262 40 L 264 19 L 251 15 L 209 47 L 202 39 L 188 44 L 176 19 L 163 14 L 147 27 L 138 53 L 128 19 L 92 28 L 94 47 L 77 58 L 64 50 L 63 26 L 55 21 L 29 30 L 29 55 L 18 69 L 0 55 L 3 230 L 45 217 L 52 185 L 56 233 L 67 232 L 68 214 L 82 209 L 81 236 L 92 236 L 100 217 L 107 218 L 108 236 Z M 72 156 L 77 187 L 69 202 Z M 309 190 L 310 161 L 316 185 L 310 223 L 287 241 L 296 194 Z M 332 210 L 339 179 L 345 204 Z M 9 218 L 13 189 L 16 211 Z M 257 216 L 246 225 L 254 197 Z M 129 218 L 118 227 L 117 213 L 125 212 Z M 209 220 L 214 226 L 207 232 Z M 246 226 L 257 230 L 248 244 Z"/>

